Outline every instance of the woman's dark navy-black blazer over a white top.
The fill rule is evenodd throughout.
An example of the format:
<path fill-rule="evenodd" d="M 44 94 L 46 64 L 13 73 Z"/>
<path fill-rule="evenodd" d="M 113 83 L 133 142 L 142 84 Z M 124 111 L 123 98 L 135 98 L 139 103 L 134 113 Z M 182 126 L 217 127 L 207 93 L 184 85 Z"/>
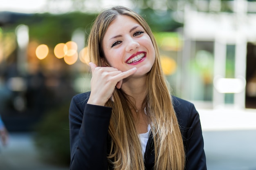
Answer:
<path fill-rule="evenodd" d="M 75 95 L 70 104 L 70 170 L 108 170 L 108 126 L 112 108 L 87 104 L 90 92 Z M 173 97 L 186 154 L 186 170 L 207 170 L 198 112 L 190 102 Z M 145 170 L 153 170 L 154 144 L 150 134 Z M 111 169 L 111 168 L 110 168 Z"/>

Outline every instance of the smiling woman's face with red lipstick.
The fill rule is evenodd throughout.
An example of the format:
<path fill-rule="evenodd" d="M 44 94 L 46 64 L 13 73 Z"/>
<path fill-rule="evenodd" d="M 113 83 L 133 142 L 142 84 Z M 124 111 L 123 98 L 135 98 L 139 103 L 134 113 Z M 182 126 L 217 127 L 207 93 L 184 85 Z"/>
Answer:
<path fill-rule="evenodd" d="M 149 35 L 139 22 L 126 15 L 118 15 L 108 26 L 102 47 L 108 65 L 120 71 L 137 67 L 135 75 L 146 75 L 155 62 Z"/>

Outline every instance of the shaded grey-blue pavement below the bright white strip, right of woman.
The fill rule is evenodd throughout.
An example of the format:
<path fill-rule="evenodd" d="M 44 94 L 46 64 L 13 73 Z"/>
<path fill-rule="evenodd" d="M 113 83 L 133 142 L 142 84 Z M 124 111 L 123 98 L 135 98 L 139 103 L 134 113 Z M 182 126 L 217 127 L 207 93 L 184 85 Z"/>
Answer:
<path fill-rule="evenodd" d="M 203 132 L 208 170 L 256 170 L 256 130 Z"/>

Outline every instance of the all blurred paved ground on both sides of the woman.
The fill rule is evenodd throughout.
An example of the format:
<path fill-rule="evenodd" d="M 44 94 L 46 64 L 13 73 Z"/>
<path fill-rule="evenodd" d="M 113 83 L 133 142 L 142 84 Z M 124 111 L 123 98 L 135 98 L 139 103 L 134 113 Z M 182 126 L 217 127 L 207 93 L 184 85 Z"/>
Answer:
<path fill-rule="evenodd" d="M 200 110 L 208 170 L 256 170 L 256 110 Z M 0 147 L 0 170 L 69 170 L 39 159 L 29 133 Z"/>

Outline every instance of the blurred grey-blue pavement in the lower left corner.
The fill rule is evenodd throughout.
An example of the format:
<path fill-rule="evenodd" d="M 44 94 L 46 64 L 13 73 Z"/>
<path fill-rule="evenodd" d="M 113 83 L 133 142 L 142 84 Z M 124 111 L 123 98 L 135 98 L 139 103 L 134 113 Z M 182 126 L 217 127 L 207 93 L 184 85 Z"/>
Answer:
<path fill-rule="evenodd" d="M 69 170 L 39 159 L 29 133 L 11 133 L 7 147 L 0 148 L 0 170 Z"/>

